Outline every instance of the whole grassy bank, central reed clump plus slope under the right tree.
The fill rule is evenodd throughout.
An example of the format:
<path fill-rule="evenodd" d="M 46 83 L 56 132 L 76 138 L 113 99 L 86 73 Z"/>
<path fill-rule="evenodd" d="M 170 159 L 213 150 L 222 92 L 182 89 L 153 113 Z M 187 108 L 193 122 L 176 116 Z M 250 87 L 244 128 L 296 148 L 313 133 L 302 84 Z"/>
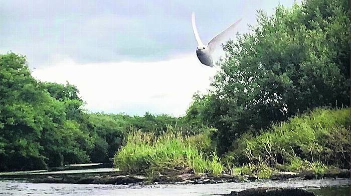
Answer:
<path fill-rule="evenodd" d="M 349 168 L 349 123 L 348 108 L 315 109 L 257 136 L 243 135 L 221 158 L 213 151 L 210 129 L 184 135 L 169 126 L 160 136 L 133 131 L 115 154 L 114 163 L 129 173 L 194 170 L 269 178 L 278 171 L 309 171 L 322 175 L 333 168 Z"/>

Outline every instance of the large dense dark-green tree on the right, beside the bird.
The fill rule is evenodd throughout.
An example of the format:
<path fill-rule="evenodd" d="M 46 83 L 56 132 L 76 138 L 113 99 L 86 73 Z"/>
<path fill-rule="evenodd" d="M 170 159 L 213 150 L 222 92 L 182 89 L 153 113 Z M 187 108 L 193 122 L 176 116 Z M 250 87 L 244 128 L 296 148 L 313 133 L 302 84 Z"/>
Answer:
<path fill-rule="evenodd" d="M 320 106 L 350 104 L 348 0 L 306 0 L 258 14 L 252 32 L 224 45 L 209 94 L 195 95 L 187 118 L 218 131 L 223 153 L 234 139 Z"/>

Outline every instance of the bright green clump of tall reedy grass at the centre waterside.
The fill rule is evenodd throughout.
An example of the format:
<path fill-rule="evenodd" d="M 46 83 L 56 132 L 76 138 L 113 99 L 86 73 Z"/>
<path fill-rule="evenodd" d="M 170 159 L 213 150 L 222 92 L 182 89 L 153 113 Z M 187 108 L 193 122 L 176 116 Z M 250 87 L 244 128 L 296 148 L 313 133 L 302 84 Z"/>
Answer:
<path fill-rule="evenodd" d="M 194 169 L 196 173 L 219 175 L 223 165 L 215 152 L 204 154 L 211 139 L 204 135 L 182 135 L 168 130 L 156 137 L 139 130 L 127 136 L 126 144 L 115 154 L 114 164 L 131 173 L 169 169 Z"/>

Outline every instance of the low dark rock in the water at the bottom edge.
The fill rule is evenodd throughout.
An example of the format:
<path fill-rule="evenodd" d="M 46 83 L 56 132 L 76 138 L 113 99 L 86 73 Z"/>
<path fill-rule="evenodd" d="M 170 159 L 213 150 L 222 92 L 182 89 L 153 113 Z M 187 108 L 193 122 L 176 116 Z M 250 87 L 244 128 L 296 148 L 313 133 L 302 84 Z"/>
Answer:
<path fill-rule="evenodd" d="M 315 196 L 313 192 L 300 188 L 250 188 L 240 192 L 232 191 L 227 196 Z"/>

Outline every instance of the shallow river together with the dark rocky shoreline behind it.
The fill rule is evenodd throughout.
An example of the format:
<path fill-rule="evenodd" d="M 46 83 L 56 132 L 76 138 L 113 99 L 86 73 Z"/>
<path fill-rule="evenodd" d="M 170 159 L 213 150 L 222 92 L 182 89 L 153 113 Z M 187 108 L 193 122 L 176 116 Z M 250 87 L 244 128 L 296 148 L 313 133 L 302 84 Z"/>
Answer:
<path fill-rule="evenodd" d="M 338 193 L 349 195 L 345 186 L 349 185 L 349 171 L 331 169 L 323 175 L 311 172 L 277 172 L 270 179 L 260 179 L 249 175 L 211 176 L 188 171 L 168 171 L 153 176 L 128 174 L 113 168 L 70 168 L 68 170 L 39 170 L 0 173 L 0 194 L 57 194 L 84 195 L 86 189 L 96 191 L 90 195 L 131 195 L 140 189 L 149 195 L 324 195 L 314 193 L 310 188 L 336 187 Z M 37 184 L 37 185 L 36 185 Z M 50 184 L 50 185 L 49 185 Z M 66 184 L 66 185 L 65 185 Z M 205 185 L 206 184 L 206 185 Z M 85 188 L 83 188 L 85 187 Z M 348 188 L 349 189 L 349 188 Z M 94 192 L 93 191 L 93 192 Z M 106 191 L 104 193 L 104 191 Z M 165 192 L 164 192 L 165 191 Z M 44 193 L 43 193 L 44 192 Z M 177 193 L 178 192 L 178 193 Z M 325 192 L 324 190 L 322 192 Z M 137 193 L 140 194 L 141 192 Z M 147 195 L 147 193 L 142 192 Z M 174 194 L 173 194 L 174 193 Z M 267 194 L 269 193 L 269 194 Z"/>

